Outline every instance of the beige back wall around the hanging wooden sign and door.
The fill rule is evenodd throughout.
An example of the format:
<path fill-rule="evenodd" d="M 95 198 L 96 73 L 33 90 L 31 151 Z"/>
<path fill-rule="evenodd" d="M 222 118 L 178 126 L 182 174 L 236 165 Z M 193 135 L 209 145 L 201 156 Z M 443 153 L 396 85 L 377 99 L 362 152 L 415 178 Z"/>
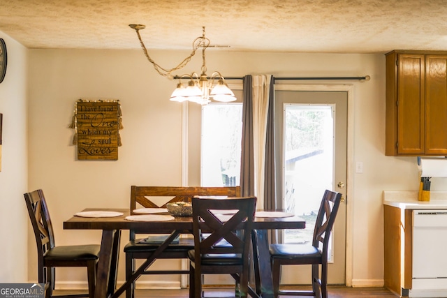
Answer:
<path fill-rule="evenodd" d="M 29 52 L 29 190 L 43 188 L 57 244 L 99 243 L 100 232 L 63 230 L 63 221 L 85 207 L 128 207 L 133 184 L 181 185 L 182 107 L 168 100 L 175 82 L 158 75 L 140 50 Z M 166 67 L 175 66 L 183 57 L 186 52 L 152 54 L 155 61 Z M 178 74 L 199 71 L 200 64 L 200 57 L 195 57 Z M 347 201 L 353 208 L 353 234 L 348 236 L 353 245 L 353 285 L 383 284 L 381 193 L 418 189 L 416 158 L 384 155 L 383 54 L 209 50 L 207 68 L 209 73 L 219 70 L 223 75 L 241 77 L 258 73 L 278 77 L 371 76 L 369 82 L 298 83 L 354 86 L 352 158 L 363 162 L 364 172 L 354 174 L 353 195 Z M 75 147 L 71 145 L 73 130 L 68 124 L 79 98 L 120 100 L 124 130 L 118 161 L 75 160 Z M 20 195 L 15 192 L 16 197 Z M 128 234 L 124 233 L 122 238 L 124 243 Z M 35 248 L 29 246 L 29 249 L 31 281 L 35 278 L 36 262 Z M 120 258 L 118 280 L 122 281 L 124 255 Z M 83 276 L 83 271 L 64 271 L 59 281 L 76 283 L 84 281 Z"/>

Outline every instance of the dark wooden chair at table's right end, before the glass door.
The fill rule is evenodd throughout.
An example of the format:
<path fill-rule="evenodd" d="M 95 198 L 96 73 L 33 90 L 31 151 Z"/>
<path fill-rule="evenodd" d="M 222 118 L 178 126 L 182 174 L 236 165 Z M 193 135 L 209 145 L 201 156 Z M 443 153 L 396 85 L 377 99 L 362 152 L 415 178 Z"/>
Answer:
<path fill-rule="evenodd" d="M 342 200 L 341 193 L 326 190 L 316 216 L 312 244 L 270 244 L 274 297 L 328 297 L 328 247 L 330 233 Z M 280 290 L 282 265 L 312 265 L 312 291 Z M 321 278 L 319 266 L 321 265 Z"/>

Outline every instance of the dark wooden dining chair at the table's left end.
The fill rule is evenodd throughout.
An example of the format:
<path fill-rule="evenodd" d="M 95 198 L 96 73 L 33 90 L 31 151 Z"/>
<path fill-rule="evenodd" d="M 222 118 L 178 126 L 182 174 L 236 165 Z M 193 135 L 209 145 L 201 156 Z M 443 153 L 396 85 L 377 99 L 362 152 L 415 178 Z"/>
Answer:
<path fill-rule="evenodd" d="M 54 290 L 55 267 L 87 267 L 89 294 L 57 297 L 93 298 L 100 246 L 96 244 L 56 246 L 50 211 L 48 211 L 43 191 L 38 189 L 31 193 L 24 193 L 24 198 L 36 237 L 38 282 L 45 283 L 45 297 L 54 297 L 52 290 Z"/>

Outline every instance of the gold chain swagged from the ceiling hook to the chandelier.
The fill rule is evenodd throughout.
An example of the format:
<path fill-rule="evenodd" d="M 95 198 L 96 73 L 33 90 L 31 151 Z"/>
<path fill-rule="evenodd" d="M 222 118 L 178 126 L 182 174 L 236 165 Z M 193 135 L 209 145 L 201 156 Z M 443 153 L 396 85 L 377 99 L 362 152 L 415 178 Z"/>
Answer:
<path fill-rule="evenodd" d="M 202 71 L 203 71 L 203 73 L 205 73 L 205 71 L 206 71 L 205 49 L 210 45 L 210 40 L 205 37 L 205 27 L 203 27 L 202 36 L 196 38 L 193 41 L 193 50 L 192 50 L 191 54 L 189 54 L 189 56 L 186 57 L 177 66 L 175 66 L 174 68 L 170 68 L 170 69 L 163 68 L 149 56 L 149 53 L 147 52 L 147 49 L 145 47 L 145 43 L 143 43 L 142 38 L 140 36 L 140 29 L 138 29 L 138 28 L 134 28 L 134 29 L 137 33 L 138 40 L 140 40 L 140 45 L 142 47 L 143 52 L 145 53 L 147 60 L 154 66 L 156 72 L 159 73 L 160 75 L 163 75 L 163 77 L 171 77 L 172 78 L 171 73 L 173 73 L 173 71 L 175 71 L 175 70 L 184 68 L 184 66 L 186 66 L 186 64 L 188 64 L 189 61 L 191 61 L 191 58 L 194 56 L 194 54 L 196 54 L 196 51 L 198 50 L 199 47 L 203 47 L 203 50 L 202 50 L 202 59 L 203 59 Z"/>

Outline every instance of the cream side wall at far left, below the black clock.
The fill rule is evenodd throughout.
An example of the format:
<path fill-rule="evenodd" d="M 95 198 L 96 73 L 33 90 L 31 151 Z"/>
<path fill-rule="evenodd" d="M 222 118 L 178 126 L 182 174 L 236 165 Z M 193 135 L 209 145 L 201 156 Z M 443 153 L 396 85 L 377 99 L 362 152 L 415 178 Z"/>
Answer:
<path fill-rule="evenodd" d="M 3 114 L 0 172 L 0 283 L 27 281 L 27 49 L 0 31 L 8 51 L 0 84 Z M 36 244 L 34 244 L 36 246 Z"/>

